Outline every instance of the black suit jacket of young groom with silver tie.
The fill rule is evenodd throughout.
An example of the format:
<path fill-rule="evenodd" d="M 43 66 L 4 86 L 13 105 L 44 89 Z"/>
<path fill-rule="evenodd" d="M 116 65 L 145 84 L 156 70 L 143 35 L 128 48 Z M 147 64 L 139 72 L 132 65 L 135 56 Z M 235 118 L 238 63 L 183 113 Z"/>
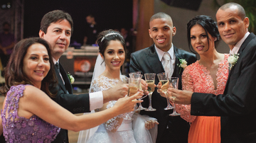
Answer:
<path fill-rule="evenodd" d="M 196 62 L 196 56 L 191 54 L 190 52 L 186 52 L 184 50 L 180 50 L 177 47 L 174 46 L 174 53 L 176 55 L 175 60 L 175 68 L 174 68 L 174 74 L 172 76 L 176 76 L 179 78 L 178 88 L 181 89 L 181 74 L 183 69 L 181 67 L 178 67 L 177 64 L 179 64 L 179 59 L 186 59 L 188 64 L 191 64 L 193 62 Z M 179 73 L 181 68 L 181 73 Z M 159 74 L 161 72 L 164 72 L 164 67 L 161 64 L 161 61 L 159 61 L 159 57 L 156 53 L 154 45 L 151 45 L 150 47 L 146 47 L 143 50 L 139 50 L 137 52 L 132 53 L 131 60 L 130 60 L 130 72 L 134 71 L 141 71 L 142 74 L 146 73 L 155 73 Z M 159 83 L 159 79 L 156 76 L 155 84 L 157 85 Z M 149 107 L 149 99 L 144 98 L 144 102 L 142 105 L 144 107 Z M 188 122 L 183 120 L 181 117 L 171 117 L 169 114 L 173 113 L 173 110 L 164 110 L 167 106 L 166 98 L 159 95 L 159 93 L 156 92 L 156 89 L 154 93 L 152 94 L 152 107 L 156 108 L 156 111 L 154 112 L 148 112 L 145 110 L 141 110 L 142 115 L 149 115 L 153 118 L 156 118 L 159 122 L 158 125 L 158 135 L 156 142 L 188 142 L 188 130 L 189 125 Z M 164 135 L 164 132 L 166 132 L 166 127 L 169 127 L 169 137 L 172 138 L 172 140 L 164 139 L 162 135 Z M 161 141 L 160 141 L 161 139 Z"/>

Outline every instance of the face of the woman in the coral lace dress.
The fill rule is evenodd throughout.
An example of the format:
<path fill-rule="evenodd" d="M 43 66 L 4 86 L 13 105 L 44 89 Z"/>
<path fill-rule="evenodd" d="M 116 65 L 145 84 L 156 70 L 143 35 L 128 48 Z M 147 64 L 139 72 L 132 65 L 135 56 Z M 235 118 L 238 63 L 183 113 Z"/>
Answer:
<path fill-rule="evenodd" d="M 209 39 L 207 38 L 207 35 Z M 205 52 L 212 51 L 215 47 L 214 38 L 198 24 L 191 28 L 191 45 L 198 55 L 203 55 Z"/>

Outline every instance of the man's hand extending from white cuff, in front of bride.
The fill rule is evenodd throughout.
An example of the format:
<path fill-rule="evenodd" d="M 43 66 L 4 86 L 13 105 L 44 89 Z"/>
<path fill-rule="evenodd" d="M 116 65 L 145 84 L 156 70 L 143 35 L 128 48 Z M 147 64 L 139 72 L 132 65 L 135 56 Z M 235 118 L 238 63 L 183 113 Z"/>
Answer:
<path fill-rule="evenodd" d="M 119 98 L 123 98 L 128 94 L 128 84 L 122 84 L 111 88 L 107 91 L 102 91 L 103 93 L 103 103 L 109 101 L 117 101 Z"/>

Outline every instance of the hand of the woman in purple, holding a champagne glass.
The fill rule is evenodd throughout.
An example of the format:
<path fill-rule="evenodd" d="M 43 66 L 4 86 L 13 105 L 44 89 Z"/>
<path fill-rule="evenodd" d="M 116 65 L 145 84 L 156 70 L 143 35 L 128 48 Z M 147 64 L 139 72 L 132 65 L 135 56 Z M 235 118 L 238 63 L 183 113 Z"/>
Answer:
<path fill-rule="evenodd" d="M 133 96 L 125 96 L 124 98 L 119 98 L 117 103 L 114 104 L 113 108 L 117 109 L 119 114 L 129 113 L 134 110 L 134 107 L 137 103 L 142 103 L 143 101 L 137 101 L 134 99 L 142 98 L 143 93 L 142 91 L 138 91 Z"/>

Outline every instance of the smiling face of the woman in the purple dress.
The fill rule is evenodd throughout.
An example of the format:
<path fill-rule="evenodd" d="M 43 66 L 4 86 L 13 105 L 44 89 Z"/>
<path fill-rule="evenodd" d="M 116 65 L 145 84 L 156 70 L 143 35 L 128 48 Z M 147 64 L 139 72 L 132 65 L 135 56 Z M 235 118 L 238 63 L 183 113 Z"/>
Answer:
<path fill-rule="evenodd" d="M 36 87 L 41 87 L 41 81 L 50 70 L 49 55 L 46 47 L 36 43 L 28 47 L 23 59 L 23 73 Z"/>

